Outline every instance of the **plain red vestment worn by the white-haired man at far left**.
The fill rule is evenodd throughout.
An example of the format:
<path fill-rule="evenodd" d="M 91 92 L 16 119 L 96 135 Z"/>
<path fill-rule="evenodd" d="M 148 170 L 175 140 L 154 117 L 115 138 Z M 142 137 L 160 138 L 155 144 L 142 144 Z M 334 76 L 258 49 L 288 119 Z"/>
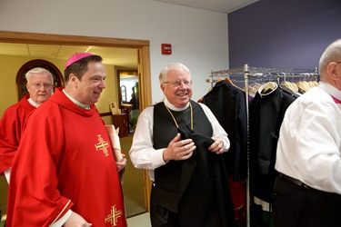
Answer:
<path fill-rule="evenodd" d="M 29 98 L 26 94 L 19 103 L 8 107 L 0 120 L 0 173 L 12 166 L 25 121 L 35 110 L 35 106 L 28 103 Z"/>

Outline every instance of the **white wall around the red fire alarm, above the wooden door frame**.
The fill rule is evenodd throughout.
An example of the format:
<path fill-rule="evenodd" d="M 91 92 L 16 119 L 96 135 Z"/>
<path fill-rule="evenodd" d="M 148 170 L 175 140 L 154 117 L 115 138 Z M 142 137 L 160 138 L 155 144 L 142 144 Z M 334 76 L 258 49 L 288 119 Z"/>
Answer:
<path fill-rule="evenodd" d="M 0 30 L 149 40 L 153 102 L 163 98 L 158 74 L 167 63 L 192 71 L 194 100 L 208 91 L 210 70 L 228 68 L 226 14 L 152 0 L 1 0 Z M 161 54 L 163 43 L 173 54 Z"/>

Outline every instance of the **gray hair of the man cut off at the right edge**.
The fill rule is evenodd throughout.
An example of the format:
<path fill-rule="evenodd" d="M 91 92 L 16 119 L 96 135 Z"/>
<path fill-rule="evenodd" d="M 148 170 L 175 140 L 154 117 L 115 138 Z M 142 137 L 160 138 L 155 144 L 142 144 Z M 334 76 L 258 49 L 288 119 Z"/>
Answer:
<path fill-rule="evenodd" d="M 341 61 L 341 39 L 336 40 L 332 44 L 329 44 L 326 47 L 325 52 L 321 55 L 320 62 L 318 65 L 318 74 L 321 77 L 326 74 L 326 67 L 331 62 L 340 62 Z"/>

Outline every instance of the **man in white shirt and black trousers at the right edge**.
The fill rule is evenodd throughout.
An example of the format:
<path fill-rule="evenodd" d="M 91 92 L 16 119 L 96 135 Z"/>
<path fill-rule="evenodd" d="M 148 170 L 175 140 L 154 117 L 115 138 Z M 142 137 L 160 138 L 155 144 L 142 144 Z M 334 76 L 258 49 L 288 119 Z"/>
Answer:
<path fill-rule="evenodd" d="M 319 61 L 321 82 L 286 110 L 276 153 L 276 227 L 341 226 L 341 39 Z"/>

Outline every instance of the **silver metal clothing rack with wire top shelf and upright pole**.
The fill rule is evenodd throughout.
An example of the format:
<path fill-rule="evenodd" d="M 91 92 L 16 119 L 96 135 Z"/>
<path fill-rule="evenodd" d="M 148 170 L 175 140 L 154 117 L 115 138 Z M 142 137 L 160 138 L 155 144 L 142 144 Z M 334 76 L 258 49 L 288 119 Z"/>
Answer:
<path fill-rule="evenodd" d="M 244 79 L 245 87 L 249 87 L 249 80 L 256 81 L 270 81 L 274 79 L 278 84 L 282 81 L 286 81 L 288 78 L 291 80 L 302 80 L 306 78 L 313 78 L 316 81 L 319 78 L 317 68 L 315 69 L 282 69 L 282 68 L 269 68 L 269 67 L 253 67 L 245 64 L 243 67 L 237 67 L 232 69 L 211 71 L 209 79 L 206 80 L 210 83 L 211 88 L 214 84 L 222 78 L 229 78 L 231 81 L 242 81 Z M 249 167 L 249 90 L 246 89 L 246 158 L 247 158 L 247 170 L 246 170 L 246 226 L 250 227 L 250 167 Z"/>

